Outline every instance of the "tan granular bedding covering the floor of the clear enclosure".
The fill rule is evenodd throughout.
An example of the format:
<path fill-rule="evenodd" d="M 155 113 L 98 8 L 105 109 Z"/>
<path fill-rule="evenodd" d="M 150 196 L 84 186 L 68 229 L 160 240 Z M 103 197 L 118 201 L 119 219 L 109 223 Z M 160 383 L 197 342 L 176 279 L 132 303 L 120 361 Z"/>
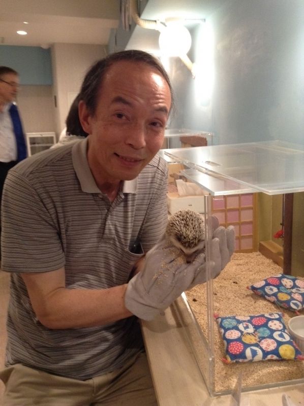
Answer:
<path fill-rule="evenodd" d="M 231 261 L 214 280 L 214 312 L 219 316 L 254 315 L 279 312 L 278 307 L 257 296 L 247 286 L 271 275 L 282 274 L 282 268 L 258 252 L 234 253 Z M 206 286 L 199 285 L 186 292 L 188 302 L 197 322 L 207 337 Z M 294 312 L 280 309 L 284 313 L 286 327 Z M 242 371 L 242 386 L 274 384 L 304 378 L 304 361 L 267 360 L 225 364 L 224 343 L 218 324 L 215 327 L 215 391 L 231 390 Z M 197 340 L 197 339 L 195 339 Z M 195 347 L 195 343 L 194 343 Z"/>

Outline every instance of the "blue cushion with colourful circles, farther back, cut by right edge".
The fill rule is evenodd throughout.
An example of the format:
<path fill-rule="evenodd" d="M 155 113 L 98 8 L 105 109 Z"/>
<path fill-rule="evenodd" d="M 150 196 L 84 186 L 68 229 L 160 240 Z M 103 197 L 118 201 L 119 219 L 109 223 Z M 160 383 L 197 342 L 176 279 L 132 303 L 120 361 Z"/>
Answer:
<path fill-rule="evenodd" d="M 296 313 L 304 308 L 304 280 L 294 276 L 284 274 L 270 276 L 255 282 L 248 289 Z"/>

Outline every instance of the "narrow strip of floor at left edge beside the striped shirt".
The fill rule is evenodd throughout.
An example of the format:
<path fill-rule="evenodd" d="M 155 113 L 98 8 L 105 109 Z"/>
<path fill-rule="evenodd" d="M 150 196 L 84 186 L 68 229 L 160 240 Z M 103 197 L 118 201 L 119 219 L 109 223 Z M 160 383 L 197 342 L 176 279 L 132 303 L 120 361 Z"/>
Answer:
<path fill-rule="evenodd" d="M 0 369 L 4 367 L 5 347 L 6 347 L 6 314 L 9 298 L 9 280 L 8 273 L 0 269 Z M 2 394 L 4 385 L 0 380 L 0 406 L 2 406 Z"/>

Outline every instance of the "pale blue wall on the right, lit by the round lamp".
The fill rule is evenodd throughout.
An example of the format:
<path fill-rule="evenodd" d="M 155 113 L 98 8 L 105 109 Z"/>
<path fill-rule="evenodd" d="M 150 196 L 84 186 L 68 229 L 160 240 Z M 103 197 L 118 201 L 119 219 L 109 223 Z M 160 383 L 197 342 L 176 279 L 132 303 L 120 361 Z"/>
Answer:
<path fill-rule="evenodd" d="M 183 94 L 178 124 L 215 132 L 219 144 L 303 143 L 303 19 L 302 0 L 223 1 L 206 19 L 213 55 L 205 54 L 198 32 L 193 36 L 199 70 L 213 63 L 209 102 L 199 77 L 193 80 L 178 60 L 173 67 L 173 86 Z"/>

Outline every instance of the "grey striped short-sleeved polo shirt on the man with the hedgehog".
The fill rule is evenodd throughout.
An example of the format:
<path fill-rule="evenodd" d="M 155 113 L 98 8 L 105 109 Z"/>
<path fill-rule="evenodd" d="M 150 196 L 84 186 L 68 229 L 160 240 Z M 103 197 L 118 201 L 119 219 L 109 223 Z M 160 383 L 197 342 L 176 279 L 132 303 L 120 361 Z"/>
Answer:
<path fill-rule="evenodd" d="M 129 317 L 106 326 L 53 330 L 37 319 L 20 276 L 65 266 L 66 286 L 106 289 L 128 282 L 139 254 L 167 222 L 167 167 L 156 155 L 113 202 L 100 192 L 86 158 L 87 139 L 16 165 L 2 208 L 2 267 L 11 272 L 6 364 L 22 363 L 86 380 L 120 367 L 142 348 Z"/>

